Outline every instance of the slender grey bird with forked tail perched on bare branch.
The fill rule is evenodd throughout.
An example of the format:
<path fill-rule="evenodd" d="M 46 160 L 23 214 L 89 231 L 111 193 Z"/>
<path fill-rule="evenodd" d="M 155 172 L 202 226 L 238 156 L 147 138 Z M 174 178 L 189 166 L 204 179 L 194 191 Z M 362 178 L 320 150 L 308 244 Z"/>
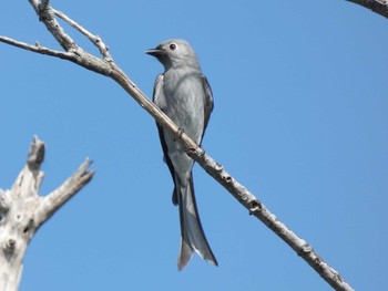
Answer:
<path fill-rule="evenodd" d="M 212 90 L 192 46 L 185 40 L 167 40 L 147 50 L 164 66 L 157 75 L 154 103 L 197 145 L 201 145 L 213 111 Z M 157 125 L 164 159 L 174 181 L 173 204 L 178 205 L 181 221 L 181 250 L 177 268 L 190 262 L 193 251 L 217 266 L 201 225 L 195 202 L 193 174 L 194 160 L 171 133 Z"/>

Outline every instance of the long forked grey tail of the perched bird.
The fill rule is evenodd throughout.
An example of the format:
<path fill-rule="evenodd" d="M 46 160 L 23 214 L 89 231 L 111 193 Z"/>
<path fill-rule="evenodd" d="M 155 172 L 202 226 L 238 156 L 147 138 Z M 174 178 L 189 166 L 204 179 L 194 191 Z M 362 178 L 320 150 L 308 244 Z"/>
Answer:
<path fill-rule="evenodd" d="M 181 250 L 177 259 L 177 269 L 181 271 L 186 267 L 193 256 L 193 251 L 210 263 L 218 266 L 201 225 L 194 195 L 193 176 L 190 176 L 190 181 L 185 186 L 177 183 L 176 191 L 181 220 Z"/>

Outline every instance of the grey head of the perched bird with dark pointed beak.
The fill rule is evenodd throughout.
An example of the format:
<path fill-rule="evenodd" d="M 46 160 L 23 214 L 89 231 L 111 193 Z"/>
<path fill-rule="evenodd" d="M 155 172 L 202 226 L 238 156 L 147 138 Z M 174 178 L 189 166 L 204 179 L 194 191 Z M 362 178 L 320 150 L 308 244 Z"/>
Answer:
<path fill-rule="evenodd" d="M 193 66 L 200 69 L 200 63 L 193 48 L 185 40 L 172 39 L 159 44 L 145 53 L 155 56 L 167 71 L 178 66 Z"/>

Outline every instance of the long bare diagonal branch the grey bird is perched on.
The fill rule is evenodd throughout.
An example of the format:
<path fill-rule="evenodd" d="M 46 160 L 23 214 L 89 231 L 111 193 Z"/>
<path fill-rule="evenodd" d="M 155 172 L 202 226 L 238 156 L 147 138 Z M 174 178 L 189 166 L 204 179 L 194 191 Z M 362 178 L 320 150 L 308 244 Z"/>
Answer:
<path fill-rule="evenodd" d="M 48 2 L 48 1 L 45 1 Z M 353 290 L 345 280 L 330 268 L 303 239 L 297 237 L 284 224 L 282 224 L 251 191 L 234 179 L 218 163 L 210 157 L 201 147 L 198 147 L 185 133 L 152 103 L 145 94 L 125 75 L 125 73 L 114 63 L 113 58 L 108 54 L 108 46 L 103 44 L 100 38 L 92 35 L 83 29 L 79 23 L 64 15 L 62 12 L 53 10 L 48 3 L 38 0 L 30 0 L 40 19 L 47 25 L 61 46 L 70 54 L 67 59 L 88 70 L 106 75 L 113 79 L 122 86 L 145 111 L 147 111 L 155 121 L 165 129 L 173 133 L 177 141 L 182 143 L 186 153 L 203 167 L 214 179 L 216 179 L 225 189 L 227 189 L 248 211 L 251 215 L 263 221 L 278 237 L 280 237 L 288 246 L 296 251 L 308 264 L 310 264 L 320 277 L 326 280 L 336 290 Z M 43 7 L 43 9 L 40 9 Z M 96 45 L 103 59 L 99 59 L 80 49 L 73 40 L 65 34 L 64 30 L 58 24 L 54 15 L 60 17 L 73 28 L 89 38 Z M 57 23 L 53 25 L 52 23 Z M 3 38 L 0 38 L 2 41 Z M 22 48 L 22 46 L 19 46 Z M 25 48 L 22 48 L 25 49 Z M 31 50 L 30 50 L 31 51 Z M 52 54 L 51 54 L 52 55 Z M 67 54 L 68 55 L 68 54 Z M 61 58 L 64 59 L 64 58 Z M 81 175 L 82 176 L 82 175 Z M 63 190 L 64 191 L 64 190 Z M 64 191 L 65 193 L 65 191 Z M 54 196 L 53 196 L 54 197 Z M 58 205 L 60 200 L 54 199 Z"/>

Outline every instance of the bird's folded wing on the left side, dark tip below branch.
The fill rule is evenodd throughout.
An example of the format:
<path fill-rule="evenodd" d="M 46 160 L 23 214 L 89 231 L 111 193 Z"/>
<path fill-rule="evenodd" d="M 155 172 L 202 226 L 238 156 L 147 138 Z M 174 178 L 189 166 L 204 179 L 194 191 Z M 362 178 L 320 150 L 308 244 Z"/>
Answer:
<path fill-rule="evenodd" d="M 154 92 L 153 92 L 153 102 L 163 111 L 164 104 L 164 93 L 163 93 L 163 74 L 157 75 L 155 84 L 154 84 Z M 164 155 L 164 162 L 167 164 L 170 174 L 174 181 L 174 191 L 173 191 L 173 204 L 177 205 L 177 194 L 176 194 L 176 185 L 175 185 L 175 169 L 173 166 L 173 163 L 171 162 L 169 157 L 169 149 L 167 144 L 164 138 L 164 129 L 163 127 L 156 123 L 157 132 L 159 132 L 159 138 L 161 139 L 162 148 L 163 148 L 163 155 Z"/>

